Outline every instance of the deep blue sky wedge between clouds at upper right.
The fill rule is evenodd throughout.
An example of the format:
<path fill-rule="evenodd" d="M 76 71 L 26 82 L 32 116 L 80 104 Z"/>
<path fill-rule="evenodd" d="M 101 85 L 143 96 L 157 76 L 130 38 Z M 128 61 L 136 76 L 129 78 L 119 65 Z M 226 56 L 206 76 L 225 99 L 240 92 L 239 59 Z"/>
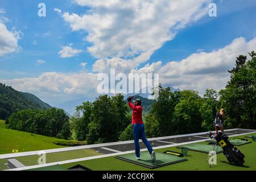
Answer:
<path fill-rule="evenodd" d="M 227 14 L 225 11 L 218 12 L 217 17 L 205 17 L 181 30 L 174 40 L 155 51 L 150 61 L 179 61 L 198 49 L 210 52 L 212 49 L 228 45 L 233 39 L 241 36 L 246 40 L 253 39 L 256 36 L 255 7 L 256 2 L 252 2 L 251 6 L 242 10 L 234 10 Z"/>

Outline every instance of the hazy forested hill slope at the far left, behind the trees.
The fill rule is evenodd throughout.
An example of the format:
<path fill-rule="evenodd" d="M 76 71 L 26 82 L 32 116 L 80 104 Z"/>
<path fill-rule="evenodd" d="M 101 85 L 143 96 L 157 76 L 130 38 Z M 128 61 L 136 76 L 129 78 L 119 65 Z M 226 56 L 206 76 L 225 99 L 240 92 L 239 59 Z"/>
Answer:
<path fill-rule="evenodd" d="M 0 83 L 0 119 L 22 109 L 49 109 L 50 105 L 30 93 L 23 93 Z"/>

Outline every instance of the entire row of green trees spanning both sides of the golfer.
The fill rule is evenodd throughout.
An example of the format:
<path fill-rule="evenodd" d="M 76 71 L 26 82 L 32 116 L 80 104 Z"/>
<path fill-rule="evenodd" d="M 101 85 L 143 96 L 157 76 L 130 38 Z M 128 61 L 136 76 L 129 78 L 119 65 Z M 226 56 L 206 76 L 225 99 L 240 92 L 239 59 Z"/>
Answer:
<path fill-rule="evenodd" d="M 197 133 L 213 130 L 213 120 L 221 108 L 226 111 L 225 129 L 256 129 L 256 54 L 239 56 L 228 71 L 225 89 L 207 89 L 203 97 L 195 90 L 172 92 L 159 88 L 158 100 L 145 115 L 147 137 Z M 143 106 L 143 103 L 142 103 Z M 63 110 L 22 110 L 7 119 L 8 127 L 65 139 L 86 140 L 88 144 L 133 139 L 131 112 L 121 94 L 102 95 L 84 102 L 68 119 Z"/>

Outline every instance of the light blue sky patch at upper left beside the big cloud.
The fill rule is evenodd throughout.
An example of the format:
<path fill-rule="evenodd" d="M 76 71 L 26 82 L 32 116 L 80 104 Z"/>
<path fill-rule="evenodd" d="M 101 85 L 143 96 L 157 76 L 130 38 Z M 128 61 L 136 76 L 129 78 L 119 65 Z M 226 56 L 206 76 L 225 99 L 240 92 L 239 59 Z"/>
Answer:
<path fill-rule="evenodd" d="M 6 26 L 9 30 L 15 27 L 23 33 L 19 40 L 22 51 L 0 57 L 0 67 L 5 71 L 19 71 L 26 76 L 37 76 L 42 72 L 73 72 L 81 69 L 82 61 L 93 62 L 95 59 L 86 51 L 75 59 L 61 59 L 58 52 L 61 46 L 74 43 L 74 47 L 85 49 L 89 43 L 81 40 L 80 32 L 69 32 L 68 24 L 53 9 L 83 10 L 69 1 L 44 1 L 47 8 L 47 16 L 38 16 L 38 4 L 42 1 L 3 1 L 1 7 L 6 10 L 5 16 L 11 20 Z M 17 6 L 17 3 L 19 6 Z M 49 34 L 49 35 L 44 35 Z M 32 44 L 36 41 L 37 45 Z M 37 65 L 36 60 L 46 61 L 43 65 Z M 1 75 L 1 78 L 24 77 L 24 75 Z"/>

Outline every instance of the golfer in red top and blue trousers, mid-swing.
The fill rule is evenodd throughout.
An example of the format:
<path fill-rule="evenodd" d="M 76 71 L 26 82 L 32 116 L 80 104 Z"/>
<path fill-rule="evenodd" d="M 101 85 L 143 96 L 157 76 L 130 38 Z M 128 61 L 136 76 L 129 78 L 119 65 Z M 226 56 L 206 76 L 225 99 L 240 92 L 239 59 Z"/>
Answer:
<path fill-rule="evenodd" d="M 134 97 L 134 96 L 133 96 Z M 135 105 L 131 103 L 133 97 L 127 98 L 129 107 L 133 109 L 133 117 L 132 117 L 132 124 L 133 124 L 133 139 L 134 139 L 134 146 L 135 146 L 135 154 L 136 159 L 140 160 L 139 154 L 139 139 L 142 139 L 142 142 L 147 146 L 147 150 L 151 155 L 152 162 L 155 162 L 155 152 L 152 149 L 150 142 L 146 139 L 145 131 L 144 131 L 144 123 L 142 120 L 142 105 L 141 99 L 137 98 L 135 100 Z"/>

